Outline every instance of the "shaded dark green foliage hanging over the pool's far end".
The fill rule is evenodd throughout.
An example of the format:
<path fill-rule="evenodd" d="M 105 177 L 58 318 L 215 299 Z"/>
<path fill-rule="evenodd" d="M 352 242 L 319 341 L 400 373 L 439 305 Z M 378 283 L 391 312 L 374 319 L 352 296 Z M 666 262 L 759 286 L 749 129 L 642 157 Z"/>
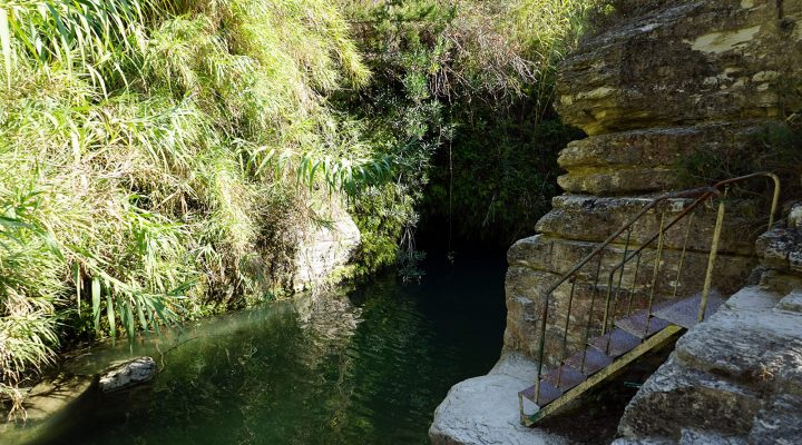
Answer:
<path fill-rule="evenodd" d="M 360 95 L 344 98 L 346 107 L 414 159 L 401 182 L 422 201 L 421 229 L 448 245 L 509 245 L 531 231 L 556 192 L 557 151 L 580 136 L 551 108 L 554 78 L 595 3 L 345 4 L 373 71 Z"/>

